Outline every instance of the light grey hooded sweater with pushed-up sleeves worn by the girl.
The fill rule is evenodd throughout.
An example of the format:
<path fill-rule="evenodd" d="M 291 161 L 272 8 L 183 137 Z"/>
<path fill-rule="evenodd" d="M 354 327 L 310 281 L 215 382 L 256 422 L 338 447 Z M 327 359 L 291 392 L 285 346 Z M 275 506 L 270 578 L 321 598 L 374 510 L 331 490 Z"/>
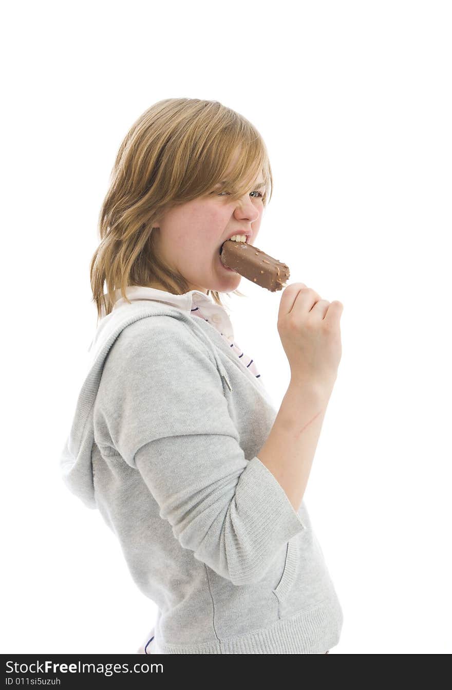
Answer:
<path fill-rule="evenodd" d="M 259 460 L 277 411 L 204 319 L 158 302 L 102 319 L 61 453 L 157 604 L 155 652 L 325 653 L 342 608 L 311 526 Z"/>

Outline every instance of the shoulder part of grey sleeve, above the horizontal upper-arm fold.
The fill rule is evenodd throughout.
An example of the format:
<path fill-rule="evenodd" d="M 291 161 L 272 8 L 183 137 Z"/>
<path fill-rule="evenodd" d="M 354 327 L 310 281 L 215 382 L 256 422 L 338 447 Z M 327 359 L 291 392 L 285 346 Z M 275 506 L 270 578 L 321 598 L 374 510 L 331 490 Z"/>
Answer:
<path fill-rule="evenodd" d="M 189 322 L 164 315 L 138 319 L 119 333 L 104 362 L 93 415 L 95 437 L 128 464 L 151 440 L 213 429 L 236 433 L 215 354 Z"/>

